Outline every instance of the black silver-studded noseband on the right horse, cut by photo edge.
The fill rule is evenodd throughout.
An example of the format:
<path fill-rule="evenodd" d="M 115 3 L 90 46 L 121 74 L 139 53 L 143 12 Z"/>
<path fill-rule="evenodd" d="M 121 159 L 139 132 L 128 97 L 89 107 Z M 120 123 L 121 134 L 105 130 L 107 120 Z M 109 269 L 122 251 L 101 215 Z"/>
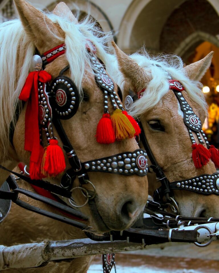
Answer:
<path fill-rule="evenodd" d="M 219 173 L 202 174 L 190 179 L 176 181 L 170 184 L 170 189 L 195 191 L 209 195 L 214 193 L 219 195 Z"/>

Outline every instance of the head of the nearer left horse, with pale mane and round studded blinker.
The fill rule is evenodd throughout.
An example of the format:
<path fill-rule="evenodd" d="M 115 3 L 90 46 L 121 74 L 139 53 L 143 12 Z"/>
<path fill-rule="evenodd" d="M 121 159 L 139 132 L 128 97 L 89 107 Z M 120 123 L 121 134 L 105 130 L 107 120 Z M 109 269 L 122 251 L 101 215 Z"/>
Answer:
<path fill-rule="evenodd" d="M 5 56 L 1 58 L 5 67 L 0 73 L 0 78 L 5 77 L 1 105 L 6 105 L 3 116 L 11 117 L 5 118 L 2 124 L 10 119 L 15 126 L 13 147 L 10 143 L 5 144 L 7 160 L 1 160 L 2 164 L 13 167 L 18 162 L 25 162 L 32 168 L 32 178 L 43 177 L 57 185 L 62 177 L 67 179 L 72 175 L 74 201 L 80 205 L 89 199 L 81 211 L 90 217 L 94 229 L 104 232 L 131 226 L 142 213 L 147 199 L 146 166 L 138 168 L 136 161 L 144 152 L 139 150 L 133 135 L 115 141 L 119 137 L 114 136 L 113 131 L 112 143 L 107 142 L 110 144 L 100 143 L 96 138 L 97 125 L 103 114 L 103 123 L 106 121 L 107 124 L 111 122 L 109 114 L 115 109 L 120 116 L 122 114 L 117 85 L 104 70 L 104 63 L 108 62 L 104 50 L 106 39 L 94 35 L 94 23 L 88 18 L 79 23 L 63 3 L 53 13 L 46 14 L 26 1 L 14 2 L 20 20 L 6 23 L 0 30 L 2 49 L 5 49 Z M 34 54 L 37 59 L 33 61 Z M 39 69 L 38 62 L 42 62 Z M 38 82 L 35 82 L 35 76 L 30 78 L 28 75 L 33 66 L 39 74 L 31 75 L 41 75 Z M 45 80 L 44 76 L 48 75 L 51 78 Z M 38 87 L 33 84 L 29 88 L 29 81 L 38 83 Z M 31 92 L 31 97 L 27 92 L 29 97 L 22 107 L 18 96 L 25 98 L 27 95 L 23 86 Z M 35 108 L 34 100 L 39 108 Z M 20 106 L 17 121 L 15 102 Z M 32 116 L 35 111 L 38 113 L 36 119 Z M 10 131 L 9 125 L 4 126 Z M 108 131 L 102 133 L 107 135 Z M 37 134 L 38 139 L 35 138 Z M 1 135 L 4 136 L 3 132 Z M 8 141 L 5 137 L 1 142 L 4 139 Z M 73 148 L 69 149 L 71 145 Z M 36 150 L 36 146 L 41 150 Z M 47 148 L 43 150 L 43 147 Z M 41 152 L 44 159 L 40 158 Z M 48 161 L 48 166 L 43 165 L 43 160 Z M 44 166 L 42 173 L 40 166 Z M 56 169 L 58 166 L 59 170 Z M 7 175 L 3 172 L 1 182 Z"/>

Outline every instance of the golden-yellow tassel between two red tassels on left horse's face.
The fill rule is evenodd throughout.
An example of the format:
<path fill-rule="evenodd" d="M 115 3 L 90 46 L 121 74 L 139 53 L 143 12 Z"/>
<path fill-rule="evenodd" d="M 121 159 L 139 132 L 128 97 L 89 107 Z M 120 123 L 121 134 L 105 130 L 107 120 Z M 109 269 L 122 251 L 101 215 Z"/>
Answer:
<path fill-rule="evenodd" d="M 122 113 L 121 109 L 115 109 L 110 118 L 113 124 L 116 140 L 134 137 L 135 129 L 126 115 Z"/>

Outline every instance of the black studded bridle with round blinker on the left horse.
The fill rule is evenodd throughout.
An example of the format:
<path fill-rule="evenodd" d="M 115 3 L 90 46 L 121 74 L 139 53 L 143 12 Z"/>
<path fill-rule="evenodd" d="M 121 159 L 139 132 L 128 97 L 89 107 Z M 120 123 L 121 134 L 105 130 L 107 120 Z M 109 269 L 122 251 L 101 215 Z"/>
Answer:
<path fill-rule="evenodd" d="M 91 62 L 94 64 L 93 70 L 95 74 L 96 83 L 103 91 L 104 95 L 111 97 L 113 107 L 117 106 L 121 109 L 122 105 L 116 96 L 114 91 L 114 85 L 111 78 L 105 71 L 104 64 L 96 57 L 96 48 L 92 42 L 88 41 L 86 44 L 88 53 L 90 54 Z M 57 46 L 43 55 L 34 56 L 34 67 L 36 71 L 44 69 L 45 66 L 56 59 L 58 56 L 65 53 L 65 45 Z M 68 136 L 66 135 L 64 128 L 62 127 L 60 119 L 70 119 L 78 110 L 80 103 L 80 94 L 78 88 L 67 76 L 63 73 L 69 69 L 69 66 L 62 69 L 60 75 L 56 77 L 51 84 L 38 82 L 38 104 L 39 104 L 39 122 L 40 122 L 40 141 L 42 142 L 42 134 L 45 132 L 47 140 L 55 138 L 52 131 L 52 123 L 56 128 L 58 136 L 62 140 L 63 149 L 68 157 L 69 164 L 71 166 L 61 178 L 60 185 L 53 185 L 47 181 L 32 180 L 25 175 L 20 175 L 16 172 L 8 170 L 7 168 L 0 166 L 0 168 L 10 171 L 11 173 L 21 177 L 25 181 L 46 189 L 57 195 L 69 198 L 73 207 L 85 206 L 88 200 L 96 197 L 96 189 L 94 184 L 89 180 L 87 172 L 104 172 L 111 174 L 121 175 L 147 175 L 147 159 L 146 152 L 142 149 L 137 149 L 134 152 L 123 152 L 115 154 L 109 157 L 98 158 L 87 162 L 80 162 L 76 152 Z M 100 80 L 100 78 L 102 80 Z M 117 98 L 117 102 L 116 102 Z M 108 110 L 108 102 L 104 102 L 104 109 Z M 13 132 L 10 132 L 13 136 Z M 13 138 L 13 137 L 12 137 Z M 75 204 L 72 199 L 72 191 L 76 188 L 72 188 L 73 182 L 78 177 L 79 187 L 76 187 L 82 191 L 84 197 L 86 197 L 85 204 L 79 206 Z M 93 188 L 92 192 L 88 192 L 82 187 L 82 185 L 90 184 Z M 1 194 L 1 192 L 0 192 Z M 3 196 L 3 195 L 2 195 Z"/>

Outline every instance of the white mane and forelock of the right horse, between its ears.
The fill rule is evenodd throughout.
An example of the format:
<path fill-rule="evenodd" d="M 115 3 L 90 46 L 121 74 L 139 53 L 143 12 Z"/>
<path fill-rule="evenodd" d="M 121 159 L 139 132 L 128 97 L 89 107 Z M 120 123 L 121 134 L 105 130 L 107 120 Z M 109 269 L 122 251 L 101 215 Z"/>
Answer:
<path fill-rule="evenodd" d="M 133 117 L 140 117 L 162 99 L 169 90 L 168 79 L 170 78 L 179 80 L 189 97 L 205 112 L 207 111 L 207 104 L 200 90 L 202 85 L 200 82 L 190 80 L 188 76 L 183 73 L 183 62 L 179 56 L 150 56 L 146 50 L 143 49 L 143 53 L 134 53 L 129 57 L 136 61 L 139 66 L 143 67 L 147 72 L 147 75 L 151 77 L 151 81 L 145 83 L 144 88 L 147 88 L 147 90 L 143 97 L 140 100 L 137 100 L 133 104 L 132 109 L 130 109 L 130 114 Z M 127 85 L 131 86 L 131 83 L 129 84 L 129 82 L 127 82 L 129 79 L 124 78 L 123 74 L 119 72 L 116 57 L 111 55 L 110 58 L 111 62 L 109 62 L 107 69 L 113 77 L 113 80 L 120 86 L 123 92 L 125 87 L 127 88 Z"/>

